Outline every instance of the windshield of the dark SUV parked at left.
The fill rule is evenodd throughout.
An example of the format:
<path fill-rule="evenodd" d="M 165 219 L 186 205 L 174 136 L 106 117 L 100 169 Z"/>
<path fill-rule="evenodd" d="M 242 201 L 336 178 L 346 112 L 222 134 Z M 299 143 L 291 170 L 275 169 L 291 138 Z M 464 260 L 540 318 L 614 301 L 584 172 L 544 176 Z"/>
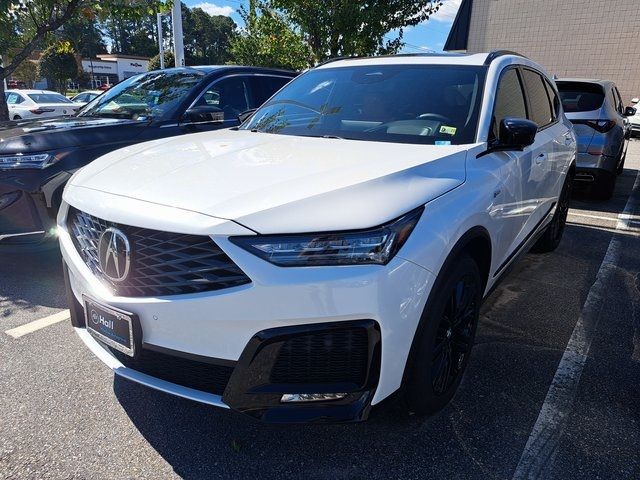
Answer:
<path fill-rule="evenodd" d="M 180 69 L 131 77 L 92 100 L 78 116 L 164 120 L 204 76 L 200 70 Z"/>

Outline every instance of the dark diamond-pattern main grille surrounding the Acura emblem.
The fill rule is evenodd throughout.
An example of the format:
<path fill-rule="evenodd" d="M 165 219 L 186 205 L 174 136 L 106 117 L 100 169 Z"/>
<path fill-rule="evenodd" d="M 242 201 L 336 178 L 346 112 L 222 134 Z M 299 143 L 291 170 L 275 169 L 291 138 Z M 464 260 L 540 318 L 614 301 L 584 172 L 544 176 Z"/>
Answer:
<path fill-rule="evenodd" d="M 128 238 L 131 266 L 124 281 L 113 282 L 98 259 L 100 236 L 116 227 Z M 70 209 L 68 228 L 73 243 L 91 271 L 115 295 L 158 297 L 198 293 L 251 282 L 244 272 L 209 237 L 161 232 L 107 222 Z"/>

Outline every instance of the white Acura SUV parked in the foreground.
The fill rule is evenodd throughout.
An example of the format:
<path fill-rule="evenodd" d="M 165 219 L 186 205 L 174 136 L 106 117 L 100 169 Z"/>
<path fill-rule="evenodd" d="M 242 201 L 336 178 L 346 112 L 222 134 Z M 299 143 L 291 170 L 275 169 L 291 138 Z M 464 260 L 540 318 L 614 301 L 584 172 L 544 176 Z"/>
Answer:
<path fill-rule="evenodd" d="M 517 54 L 338 60 L 235 129 L 109 153 L 58 216 L 72 324 L 117 375 L 272 422 L 433 414 L 482 300 L 555 249 L 576 140 Z"/>

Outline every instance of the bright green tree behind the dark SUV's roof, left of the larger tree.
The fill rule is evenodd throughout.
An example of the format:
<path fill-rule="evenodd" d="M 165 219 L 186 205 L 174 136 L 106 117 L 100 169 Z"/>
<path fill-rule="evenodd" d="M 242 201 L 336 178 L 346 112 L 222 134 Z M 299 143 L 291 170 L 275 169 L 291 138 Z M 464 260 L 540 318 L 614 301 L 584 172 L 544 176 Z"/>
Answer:
<path fill-rule="evenodd" d="M 240 9 L 244 30 L 231 41 L 236 63 L 302 70 L 309 66 L 311 52 L 302 35 L 278 12 L 250 0 Z"/>

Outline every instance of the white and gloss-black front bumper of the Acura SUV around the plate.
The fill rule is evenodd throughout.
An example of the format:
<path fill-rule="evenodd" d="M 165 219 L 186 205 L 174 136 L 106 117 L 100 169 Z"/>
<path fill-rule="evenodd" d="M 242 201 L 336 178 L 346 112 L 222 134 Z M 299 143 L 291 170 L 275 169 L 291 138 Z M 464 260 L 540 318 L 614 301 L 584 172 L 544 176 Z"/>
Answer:
<path fill-rule="evenodd" d="M 170 297 L 116 297 L 93 276 L 63 222 L 60 225 L 70 305 L 75 304 L 76 310 L 74 326 L 103 362 L 116 374 L 138 383 L 211 405 L 232 407 L 267 421 L 365 419 L 372 405 L 400 387 L 413 335 L 434 281 L 430 272 L 400 257 L 386 266 L 276 267 L 233 245 L 226 236 L 213 235 L 213 240 L 252 283 Z M 137 314 L 143 350 L 169 352 L 231 368 L 229 380 L 212 393 L 125 365 L 127 359 L 101 346 L 78 321 L 83 318 L 83 294 Z M 354 326 L 366 330 L 368 338 L 367 373 L 361 384 L 312 382 L 274 386 L 269 380 L 282 338 Z M 329 392 L 348 395 L 307 405 L 280 402 L 283 393 Z"/>

